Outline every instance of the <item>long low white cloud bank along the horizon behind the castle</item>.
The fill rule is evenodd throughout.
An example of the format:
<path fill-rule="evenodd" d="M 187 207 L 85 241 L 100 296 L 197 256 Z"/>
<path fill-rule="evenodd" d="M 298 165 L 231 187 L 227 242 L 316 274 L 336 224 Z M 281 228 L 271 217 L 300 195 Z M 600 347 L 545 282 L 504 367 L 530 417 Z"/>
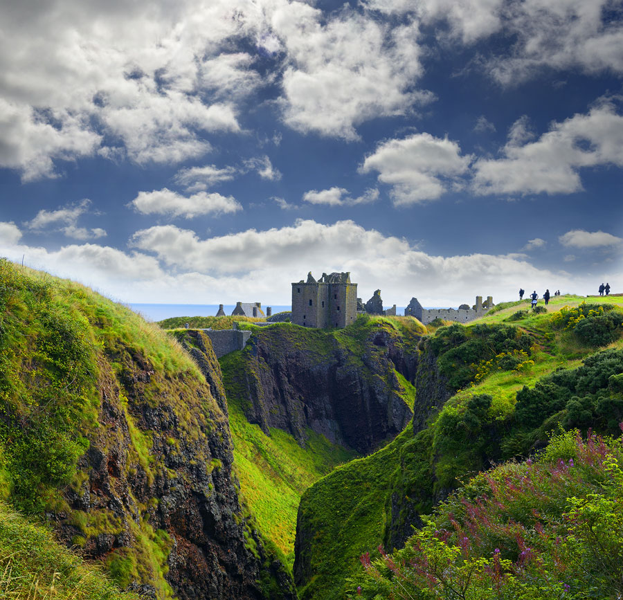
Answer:
<path fill-rule="evenodd" d="M 0 223 L 0 256 L 70 277 L 125 302 L 235 302 L 253 290 L 265 303 L 287 304 L 291 282 L 323 271 L 351 271 L 359 296 L 380 288 L 387 304 L 412 296 L 425 305 L 458 306 L 476 295 L 496 301 L 525 289 L 568 289 L 586 293 L 595 278 L 572 278 L 538 269 L 521 255 L 434 256 L 406 239 L 386 236 L 353 221 L 293 226 L 201 239 L 171 225 L 136 232 L 135 251 L 96 244 L 71 244 L 57 251 L 19 244 L 19 228 Z M 301 265 L 305 265 L 302 267 Z M 607 277 L 623 278 L 608 267 Z"/>

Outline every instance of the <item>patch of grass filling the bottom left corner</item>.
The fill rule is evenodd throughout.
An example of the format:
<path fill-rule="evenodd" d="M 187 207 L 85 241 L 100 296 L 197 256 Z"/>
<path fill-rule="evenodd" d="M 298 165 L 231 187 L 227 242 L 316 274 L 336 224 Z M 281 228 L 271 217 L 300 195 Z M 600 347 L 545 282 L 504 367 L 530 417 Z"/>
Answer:
<path fill-rule="evenodd" d="M 0 598 L 138 600 L 59 545 L 49 529 L 0 502 Z"/>

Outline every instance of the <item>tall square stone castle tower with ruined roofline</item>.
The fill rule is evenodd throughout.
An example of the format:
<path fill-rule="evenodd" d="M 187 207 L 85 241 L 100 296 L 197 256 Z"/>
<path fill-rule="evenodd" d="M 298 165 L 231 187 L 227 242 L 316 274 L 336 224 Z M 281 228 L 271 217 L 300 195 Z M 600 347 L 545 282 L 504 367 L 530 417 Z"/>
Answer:
<path fill-rule="evenodd" d="M 291 322 L 303 327 L 346 327 L 357 318 L 357 284 L 350 273 L 323 273 L 316 281 L 311 271 L 307 281 L 292 284 Z"/>

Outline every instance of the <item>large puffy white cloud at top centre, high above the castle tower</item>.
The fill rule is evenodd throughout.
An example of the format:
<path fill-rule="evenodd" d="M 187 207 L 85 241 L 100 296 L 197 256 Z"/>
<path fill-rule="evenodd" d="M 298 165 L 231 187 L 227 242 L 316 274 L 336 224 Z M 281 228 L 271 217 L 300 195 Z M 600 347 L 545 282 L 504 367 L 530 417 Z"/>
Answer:
<path fill-rule="evenodd" d="M 433 100 L 415 87 L 423 73 L 415 22 L 391 28 L 351 10 L 325 19 L 294 2 L 273 12 L 271 27 L 287 53 L 281 106 L 293 129 L 353 140 L 361 122 Z"/>

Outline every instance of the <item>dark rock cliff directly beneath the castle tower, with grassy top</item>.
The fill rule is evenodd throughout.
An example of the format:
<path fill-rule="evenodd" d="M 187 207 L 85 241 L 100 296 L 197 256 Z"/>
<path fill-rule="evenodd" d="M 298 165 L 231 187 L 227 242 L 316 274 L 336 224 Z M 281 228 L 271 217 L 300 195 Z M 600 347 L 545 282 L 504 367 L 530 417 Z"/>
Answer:
<path fill-rule="evenodd" d="M 335 332 L 294 325 L 255 331 L 244 351 L 224 363 L 228 394 L 265 432 L 280 428 L 304 444 L 311 428 L 368 453 L 413 414 L 420 334 L 370 318 Z"/>

